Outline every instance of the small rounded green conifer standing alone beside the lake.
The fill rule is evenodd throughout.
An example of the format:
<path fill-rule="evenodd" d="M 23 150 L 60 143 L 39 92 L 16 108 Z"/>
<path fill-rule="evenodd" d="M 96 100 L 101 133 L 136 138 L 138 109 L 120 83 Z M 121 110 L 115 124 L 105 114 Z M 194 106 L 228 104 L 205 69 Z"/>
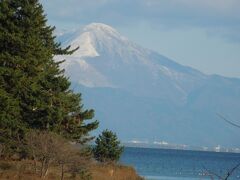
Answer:
<path fill-rule="evenodd" d="M 93 148 L 94 157 L 100 162 L 116 162 L 124 150 L 117 135 L 109 130 L 104 130 L 95 143 L 96 146 Z"/>

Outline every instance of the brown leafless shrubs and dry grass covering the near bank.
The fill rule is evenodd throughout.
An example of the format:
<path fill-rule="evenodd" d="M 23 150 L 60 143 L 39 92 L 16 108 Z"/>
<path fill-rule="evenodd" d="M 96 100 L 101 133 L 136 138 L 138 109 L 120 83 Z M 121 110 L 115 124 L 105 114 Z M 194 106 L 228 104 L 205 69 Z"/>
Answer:
<path fill-rule="evenodd" d="M 104 132 L 108 132 L 110 136 L 107 141 L 111 141 L 111 135 L 115 134 Z M 114 141 L 111 142 L 117 142 L 114 144 L 118 147 L 119 141 L 116 136 L 113 137 Z M 34 130 L 25 139 L 25 158 L 19 156 L 21 153 L 1 157 L 0 179 L 141 179 L 133 168 L 117 163 L 120 154 L 115 150 L 122 150 L 122 147 L 99 147 L 100 150 L 106 150 L 98 151 L 97 157 L 104 160 L 99 161 L 93 158 L 95 147 L 92 150 L 87 145 L 72 144 L 53 132 Z"/>

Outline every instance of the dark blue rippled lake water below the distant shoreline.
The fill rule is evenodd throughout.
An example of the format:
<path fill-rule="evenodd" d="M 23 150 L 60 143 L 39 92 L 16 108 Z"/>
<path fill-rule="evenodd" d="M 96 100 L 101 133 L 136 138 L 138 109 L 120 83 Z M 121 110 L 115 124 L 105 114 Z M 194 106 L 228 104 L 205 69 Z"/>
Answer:
<path fill-rule="evenodd" d="M 147 180 L 197 180 L 211 179 L 207 171 L 226 175 L 240 163 L 240 154 L 126 147 L 120 161 Z M 240 167 L 229 179 L 240 179 Z"/>

